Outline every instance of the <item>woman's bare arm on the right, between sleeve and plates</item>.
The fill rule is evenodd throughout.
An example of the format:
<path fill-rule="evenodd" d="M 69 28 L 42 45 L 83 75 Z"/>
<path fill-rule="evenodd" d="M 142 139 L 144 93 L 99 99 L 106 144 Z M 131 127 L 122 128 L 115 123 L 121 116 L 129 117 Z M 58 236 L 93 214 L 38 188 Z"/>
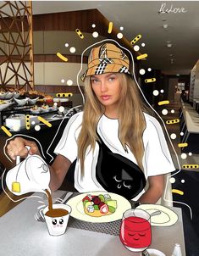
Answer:
<path fill-rule="evenodd" d="M 141 195 L 140 203 L 157 203 L 158 199 L 163 195 L 164 175 L 155 175 L 148 177 L 149 187 L 146 192 Z"/>

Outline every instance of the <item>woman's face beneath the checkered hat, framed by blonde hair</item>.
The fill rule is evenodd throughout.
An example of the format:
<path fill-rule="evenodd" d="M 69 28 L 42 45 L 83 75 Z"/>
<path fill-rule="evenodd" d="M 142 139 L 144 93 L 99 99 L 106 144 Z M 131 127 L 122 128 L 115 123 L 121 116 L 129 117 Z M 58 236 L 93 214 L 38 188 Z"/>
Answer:
<path fill-rule="evenodd" d="M 91 75 L 91 87 L 99 102 L 106 109 L 118 107 L 121 86 L 117 73 Z"/>

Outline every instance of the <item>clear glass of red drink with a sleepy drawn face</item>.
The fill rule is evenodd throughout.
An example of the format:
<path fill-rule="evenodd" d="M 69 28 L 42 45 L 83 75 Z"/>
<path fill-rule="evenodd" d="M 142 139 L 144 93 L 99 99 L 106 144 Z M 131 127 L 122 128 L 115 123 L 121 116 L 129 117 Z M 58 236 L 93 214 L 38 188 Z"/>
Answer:
<path fill-rule="evenodd" d="M 132 252 L 142 252 L 152 242 L 151 216 L 142 209 L 128 209 L 123 214 L 119 238 Z"/>

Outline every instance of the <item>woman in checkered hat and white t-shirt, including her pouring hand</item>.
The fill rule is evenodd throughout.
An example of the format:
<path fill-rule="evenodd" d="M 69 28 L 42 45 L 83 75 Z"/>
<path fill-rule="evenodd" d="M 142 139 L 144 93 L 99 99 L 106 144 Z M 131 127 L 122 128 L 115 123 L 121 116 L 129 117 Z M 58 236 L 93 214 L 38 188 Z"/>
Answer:
<path fill-rule="evenodd" d="M 174 164 L 158 120 L 141 103 L 129 58 L 113 43 L 93 47 L 81 79 L 84 112 L 70 118 L 55 148 L 51 189 L 61 186 L 74 163 L 79 192 L 106 190 L 156 203 L 163 194 L 163 175 Z M 16 138 L 8 144 L 9 156 L 25 156 L 25 146 L 30 146 L 29 153 L 39 153 L 34 142 Z"/>

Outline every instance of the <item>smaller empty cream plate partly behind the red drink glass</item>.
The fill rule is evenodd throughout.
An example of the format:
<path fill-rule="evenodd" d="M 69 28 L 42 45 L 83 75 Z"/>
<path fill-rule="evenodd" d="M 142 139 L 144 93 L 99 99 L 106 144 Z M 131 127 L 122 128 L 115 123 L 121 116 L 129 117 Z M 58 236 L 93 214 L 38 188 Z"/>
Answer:
<path fill-rule="evenodd" d="M 160 214 L 151 216 L 151 225 L 169 226 L 174 225 L 178 220 L 178 214 L 173 210 L 159 204 L 141 204 L 136 209 L 143 209 L 148 214 L 160 211 Z"/>

